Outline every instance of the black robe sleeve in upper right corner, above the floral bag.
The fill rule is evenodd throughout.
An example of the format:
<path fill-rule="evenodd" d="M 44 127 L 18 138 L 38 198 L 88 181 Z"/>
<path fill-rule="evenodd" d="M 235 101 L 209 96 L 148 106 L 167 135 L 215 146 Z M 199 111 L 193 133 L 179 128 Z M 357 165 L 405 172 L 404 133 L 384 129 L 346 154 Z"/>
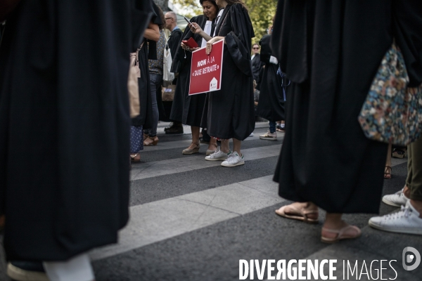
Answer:
<path fill-rule="evenodd" d="M 422 84 L 422 5 L 420 0 L 393 1 L 394 37 L 402 50 L 409 86 Z"/>

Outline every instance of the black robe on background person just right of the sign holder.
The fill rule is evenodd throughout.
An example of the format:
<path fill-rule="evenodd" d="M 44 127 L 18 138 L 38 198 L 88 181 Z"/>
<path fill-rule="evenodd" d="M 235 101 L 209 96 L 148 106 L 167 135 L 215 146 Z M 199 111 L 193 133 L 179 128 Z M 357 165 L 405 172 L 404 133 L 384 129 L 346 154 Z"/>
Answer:
<path fill-rule="evenodd" d="M 271 122 L 284 120 L 284 93 L 281 87 L 282 79 L 277 74 L 279 65 L 270 63 L 271 35 L 267 34 L 260 40 L 261 61 L 265 67 L 260 81 L 260 100 L 257 106 L 257 115 Z"/>

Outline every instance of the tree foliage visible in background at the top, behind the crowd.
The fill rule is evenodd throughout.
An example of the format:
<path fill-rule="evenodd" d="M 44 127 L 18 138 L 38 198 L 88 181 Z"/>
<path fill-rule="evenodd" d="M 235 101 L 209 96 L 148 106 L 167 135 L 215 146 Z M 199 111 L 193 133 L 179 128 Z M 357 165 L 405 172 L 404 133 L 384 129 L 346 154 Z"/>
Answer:
<path fill-rule="evenodd" d="M 272 18 L 276 14 L 277 0 L 244 1 L 248 7 L 250 20 L 255 30 L 255 38 L 252 38 L 252 43 L 257 43 L 262 36 L 267 34 L 268 27 L 272 25 Z M 199 0 L 173 0 L 173 3 L 179 8 L 178 13 L 186 15 L 186 17 L 202 13 Z"/>

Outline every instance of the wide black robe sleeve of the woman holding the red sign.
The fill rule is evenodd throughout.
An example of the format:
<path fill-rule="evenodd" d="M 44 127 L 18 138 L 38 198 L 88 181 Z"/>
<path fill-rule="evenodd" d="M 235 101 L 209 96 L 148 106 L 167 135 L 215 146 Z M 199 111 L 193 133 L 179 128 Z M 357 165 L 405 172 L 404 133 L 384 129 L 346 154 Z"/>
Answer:
<path fill-rule="evenodd" d="M 239 70 L 252 77 L 250 46 L 255 33 L 248 11 L 241 4 L 234 4 L 228 13 L 231 18 L 232 31 L 226 35 L 227 49 Z"/>

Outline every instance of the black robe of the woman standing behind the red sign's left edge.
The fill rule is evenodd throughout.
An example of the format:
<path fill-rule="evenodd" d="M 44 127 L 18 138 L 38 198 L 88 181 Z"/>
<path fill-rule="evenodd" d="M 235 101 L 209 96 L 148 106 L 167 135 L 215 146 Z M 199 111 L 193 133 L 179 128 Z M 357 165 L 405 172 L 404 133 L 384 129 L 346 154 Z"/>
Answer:
<path fill-rule="evenodd" d="M 205 15 L 197 15 L 191 18 L 191 22 L 198 23 L 203 29 L 207 22 L 207 18 Z M 191 37 L 195 39 L 198 46 L 201 46 L 203 38 L 200 37 L 199 34 L 193 34 L 190 29 L 186 28 L 182 39 L 188 40 Z M 185 51 L 179 46 L 172 63 L 172 72 L 179 73 L 179 77 L 177 78 L 177 86 L 176 91 L 174 92 L 170 119 L 189 126 L 200 126 L 206 94 L 188 95 L 191 81 L 191 61 L 192 53 L 190 51 Z"/>

